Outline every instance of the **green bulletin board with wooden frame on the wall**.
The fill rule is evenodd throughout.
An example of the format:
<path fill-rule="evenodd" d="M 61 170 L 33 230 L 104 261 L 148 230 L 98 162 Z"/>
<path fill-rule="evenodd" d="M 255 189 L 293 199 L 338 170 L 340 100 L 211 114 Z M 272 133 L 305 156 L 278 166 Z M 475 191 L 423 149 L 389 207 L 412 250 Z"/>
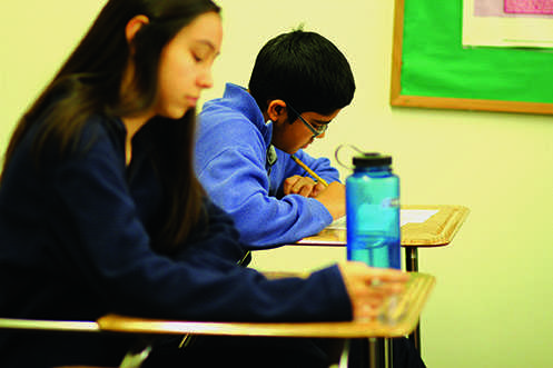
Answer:
<path fill-rule="evenodd" d="M 391 105 L 553 115 L 553 49 L 463 47 L 462 0 L 396 0 Z"/>

